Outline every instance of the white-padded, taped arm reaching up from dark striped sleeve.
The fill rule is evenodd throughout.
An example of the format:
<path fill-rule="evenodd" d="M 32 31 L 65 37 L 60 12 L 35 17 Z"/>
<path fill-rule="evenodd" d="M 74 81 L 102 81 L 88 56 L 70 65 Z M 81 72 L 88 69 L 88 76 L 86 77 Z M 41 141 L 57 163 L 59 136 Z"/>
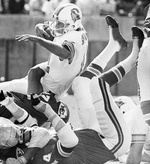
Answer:
<path fill-rule="evenodd" d="M 48 96 L 48 95 L 47 95 Z M 34 98 L 34 97 L 33 97 Z M 61 155 L 68 154 L 68 151 L 72 151 L 73 148 L 78 144 L 78 137 L 72 130 L 70 124 L 66 124 L 52 109 L 52 107 L 43 101 L 41 101 L 38 97 L 35 97 L 32 99 L 34 103 L 34 108 L 43 114 L 48 118 L 48 120 L 52 123 L 52 126 L 54 127 L 55 131 L 57 132 L 59 141 L 57 146 L 59 147 L 59 150 L 61 150 Z M 65 152 L 66 151 L 66 152 Z M 71 152 L 69 152 L 71 153 Z"/>

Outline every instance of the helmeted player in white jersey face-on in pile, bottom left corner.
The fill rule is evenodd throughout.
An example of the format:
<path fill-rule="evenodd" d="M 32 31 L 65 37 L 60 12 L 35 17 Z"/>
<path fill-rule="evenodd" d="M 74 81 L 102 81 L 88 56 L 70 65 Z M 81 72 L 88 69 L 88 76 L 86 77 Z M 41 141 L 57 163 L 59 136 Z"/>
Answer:
<path fill-rule="evenodd" d="M 0 117 L 0 159 L 9 164 L 7 158 L 13 157 L 17 158 L 18 163 L 25 164 L 53 135 L 55 132 L 43 127 L 20 127 L 9 119 Z M 17 164 L 15 161 L 12 163 Z"/>

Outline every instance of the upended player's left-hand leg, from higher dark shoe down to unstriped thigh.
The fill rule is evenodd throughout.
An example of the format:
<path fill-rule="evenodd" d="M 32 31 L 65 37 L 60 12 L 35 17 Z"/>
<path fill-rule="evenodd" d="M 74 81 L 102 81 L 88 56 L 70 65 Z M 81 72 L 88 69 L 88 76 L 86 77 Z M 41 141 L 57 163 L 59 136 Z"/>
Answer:
<path fill-rule="evenodd" d="M 74 79 L 72 84 L 72 89 L 79 107 L 79 117 L 81 118 L 83 128 L 91 127 L 97 129 L 98 127 L 99 129 L 90 92 L 90 79 L 93 76 L 99 76 L 111 57 L 116 52 L 126 48 L 127 46 L 126 41 L 119 32 L 116 21 L 110 16 L 106 17 L 106 21 L 109 29 L 108 45 L 92 61 L 85 72 L 83 72 L 80 77 Z M 91 120 L 91 118 L 93 118 L 93 120 Z"/>

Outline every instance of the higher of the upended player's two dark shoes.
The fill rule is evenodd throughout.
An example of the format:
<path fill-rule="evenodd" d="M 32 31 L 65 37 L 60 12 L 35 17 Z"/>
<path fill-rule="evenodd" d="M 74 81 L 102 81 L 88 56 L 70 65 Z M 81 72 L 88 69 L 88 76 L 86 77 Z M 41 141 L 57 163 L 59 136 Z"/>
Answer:
<path fill-rule="evenodd" d="M 106 16 L 106 22 L 108 27 L 112 29 L 112 37 L 114 41 L 117 41 L 120 45 L 120 50 L 127 48 L 127 41 L 123 38 L 119 31 L 119 24 L 110 15 Z"/>

